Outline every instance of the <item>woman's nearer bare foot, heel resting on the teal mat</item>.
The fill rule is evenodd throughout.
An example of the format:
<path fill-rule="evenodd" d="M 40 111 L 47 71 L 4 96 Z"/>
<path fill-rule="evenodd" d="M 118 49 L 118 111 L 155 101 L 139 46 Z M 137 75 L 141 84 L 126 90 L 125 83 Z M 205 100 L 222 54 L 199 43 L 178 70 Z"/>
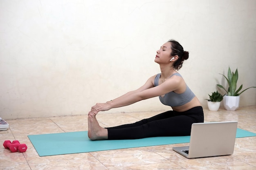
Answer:
<path fill-rule="evenodd" d="M 91 140 L 108 139 L 108 130 L 99 126 L 96 115 L 88 115 L 88 137 Z"/>

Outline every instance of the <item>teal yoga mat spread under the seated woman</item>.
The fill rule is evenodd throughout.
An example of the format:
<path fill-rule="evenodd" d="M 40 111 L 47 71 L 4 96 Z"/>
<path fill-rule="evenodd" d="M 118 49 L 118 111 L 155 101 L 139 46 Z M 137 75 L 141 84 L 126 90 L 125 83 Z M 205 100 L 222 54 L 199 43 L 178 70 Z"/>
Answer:
<path fill-rule="evenodd" d="M 91 141 L 88 138 L 87 132 L 88 131 L 28 135 L 28 137 L 40 157 L 145 146 L 181 144 L 189 143 L 190 141 L 190 136 Z M 239 128 L 237 129 L 236 138 L 252 136 L 256 136 L 256 134 Z"/>

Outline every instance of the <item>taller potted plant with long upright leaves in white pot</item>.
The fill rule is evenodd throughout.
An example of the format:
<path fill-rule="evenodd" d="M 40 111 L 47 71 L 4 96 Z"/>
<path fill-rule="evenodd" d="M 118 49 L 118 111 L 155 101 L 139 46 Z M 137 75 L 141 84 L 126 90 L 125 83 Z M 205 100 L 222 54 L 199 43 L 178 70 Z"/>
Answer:
<path fill-rule="evenodd" d="M 223 75 L 223 74 L 221 74 L 221 75 Z M 242 94 L 244 91 L 246 91 L 249 88 L 256 88 L 256 87 L 252 86 L 252 87 L 246 88 L 245 90 L 241 91 L 242 88 L 243 88 L 243 84 L 242 84 L 238 89 L 236 89 L 236 83 L 237 83 L 237 80 L 238 80 L 237 68 L 236 68 L 235 73 L 234 72 L 231 73 L 231 70 L 230 70 L 230 67 L 229 67 L 227 77 L 225 75 L 223 75 L 223 76 L 227 80 L 227 84 L 228 84 L 229 88 L 226 90 L 220 84 L 217 84 L 217 86 L 220 87 L 220 88 L 223 88 L 227 93 L 227 95 L 225 95 L 223 97 L 223 99 L 224 99 L 223 100 L 224 108 L 226 110 L 236 110 L 239 107 L 240 94 Z"/>

